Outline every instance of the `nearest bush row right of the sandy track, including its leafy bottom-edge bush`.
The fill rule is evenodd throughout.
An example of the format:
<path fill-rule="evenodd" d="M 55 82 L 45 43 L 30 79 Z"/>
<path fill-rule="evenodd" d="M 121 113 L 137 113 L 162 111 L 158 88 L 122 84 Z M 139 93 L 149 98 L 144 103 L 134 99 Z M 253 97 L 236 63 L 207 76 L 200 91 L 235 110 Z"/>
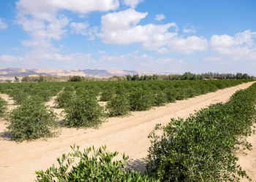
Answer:
<path fill-rule="evenodd" d="M 46 171 L 37 171 L 37 181 L 240 181 L 248 178 L 237 165 L 236 151 L 252 149 L 256 116 L 256 84 L 236 92 L 227 103 L 217 103 L 187 119 L 172 119 L 165 127 L 157 124 L 148 138 L 146 172 L 126 169 L 128 157 L 114 157 L 106 147 L 72 152 L 58 158 Z M 159 132 L 159 130 L 161 132 Z M 77 165 L 74 165 L 74 161 Z M 72 166 L 72 167 L 71 167 Z M 70 169 L 70 170 L 69 170 Z"/>

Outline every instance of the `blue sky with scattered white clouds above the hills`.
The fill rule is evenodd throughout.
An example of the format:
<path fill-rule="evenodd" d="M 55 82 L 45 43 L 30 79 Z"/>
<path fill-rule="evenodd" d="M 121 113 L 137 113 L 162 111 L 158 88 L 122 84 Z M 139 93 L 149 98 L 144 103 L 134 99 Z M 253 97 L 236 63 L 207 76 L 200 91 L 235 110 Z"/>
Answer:
<path fill-rule="evenodd" d="M 255 0 L 0 0 L 0 68 L 256 75 Z"/>

